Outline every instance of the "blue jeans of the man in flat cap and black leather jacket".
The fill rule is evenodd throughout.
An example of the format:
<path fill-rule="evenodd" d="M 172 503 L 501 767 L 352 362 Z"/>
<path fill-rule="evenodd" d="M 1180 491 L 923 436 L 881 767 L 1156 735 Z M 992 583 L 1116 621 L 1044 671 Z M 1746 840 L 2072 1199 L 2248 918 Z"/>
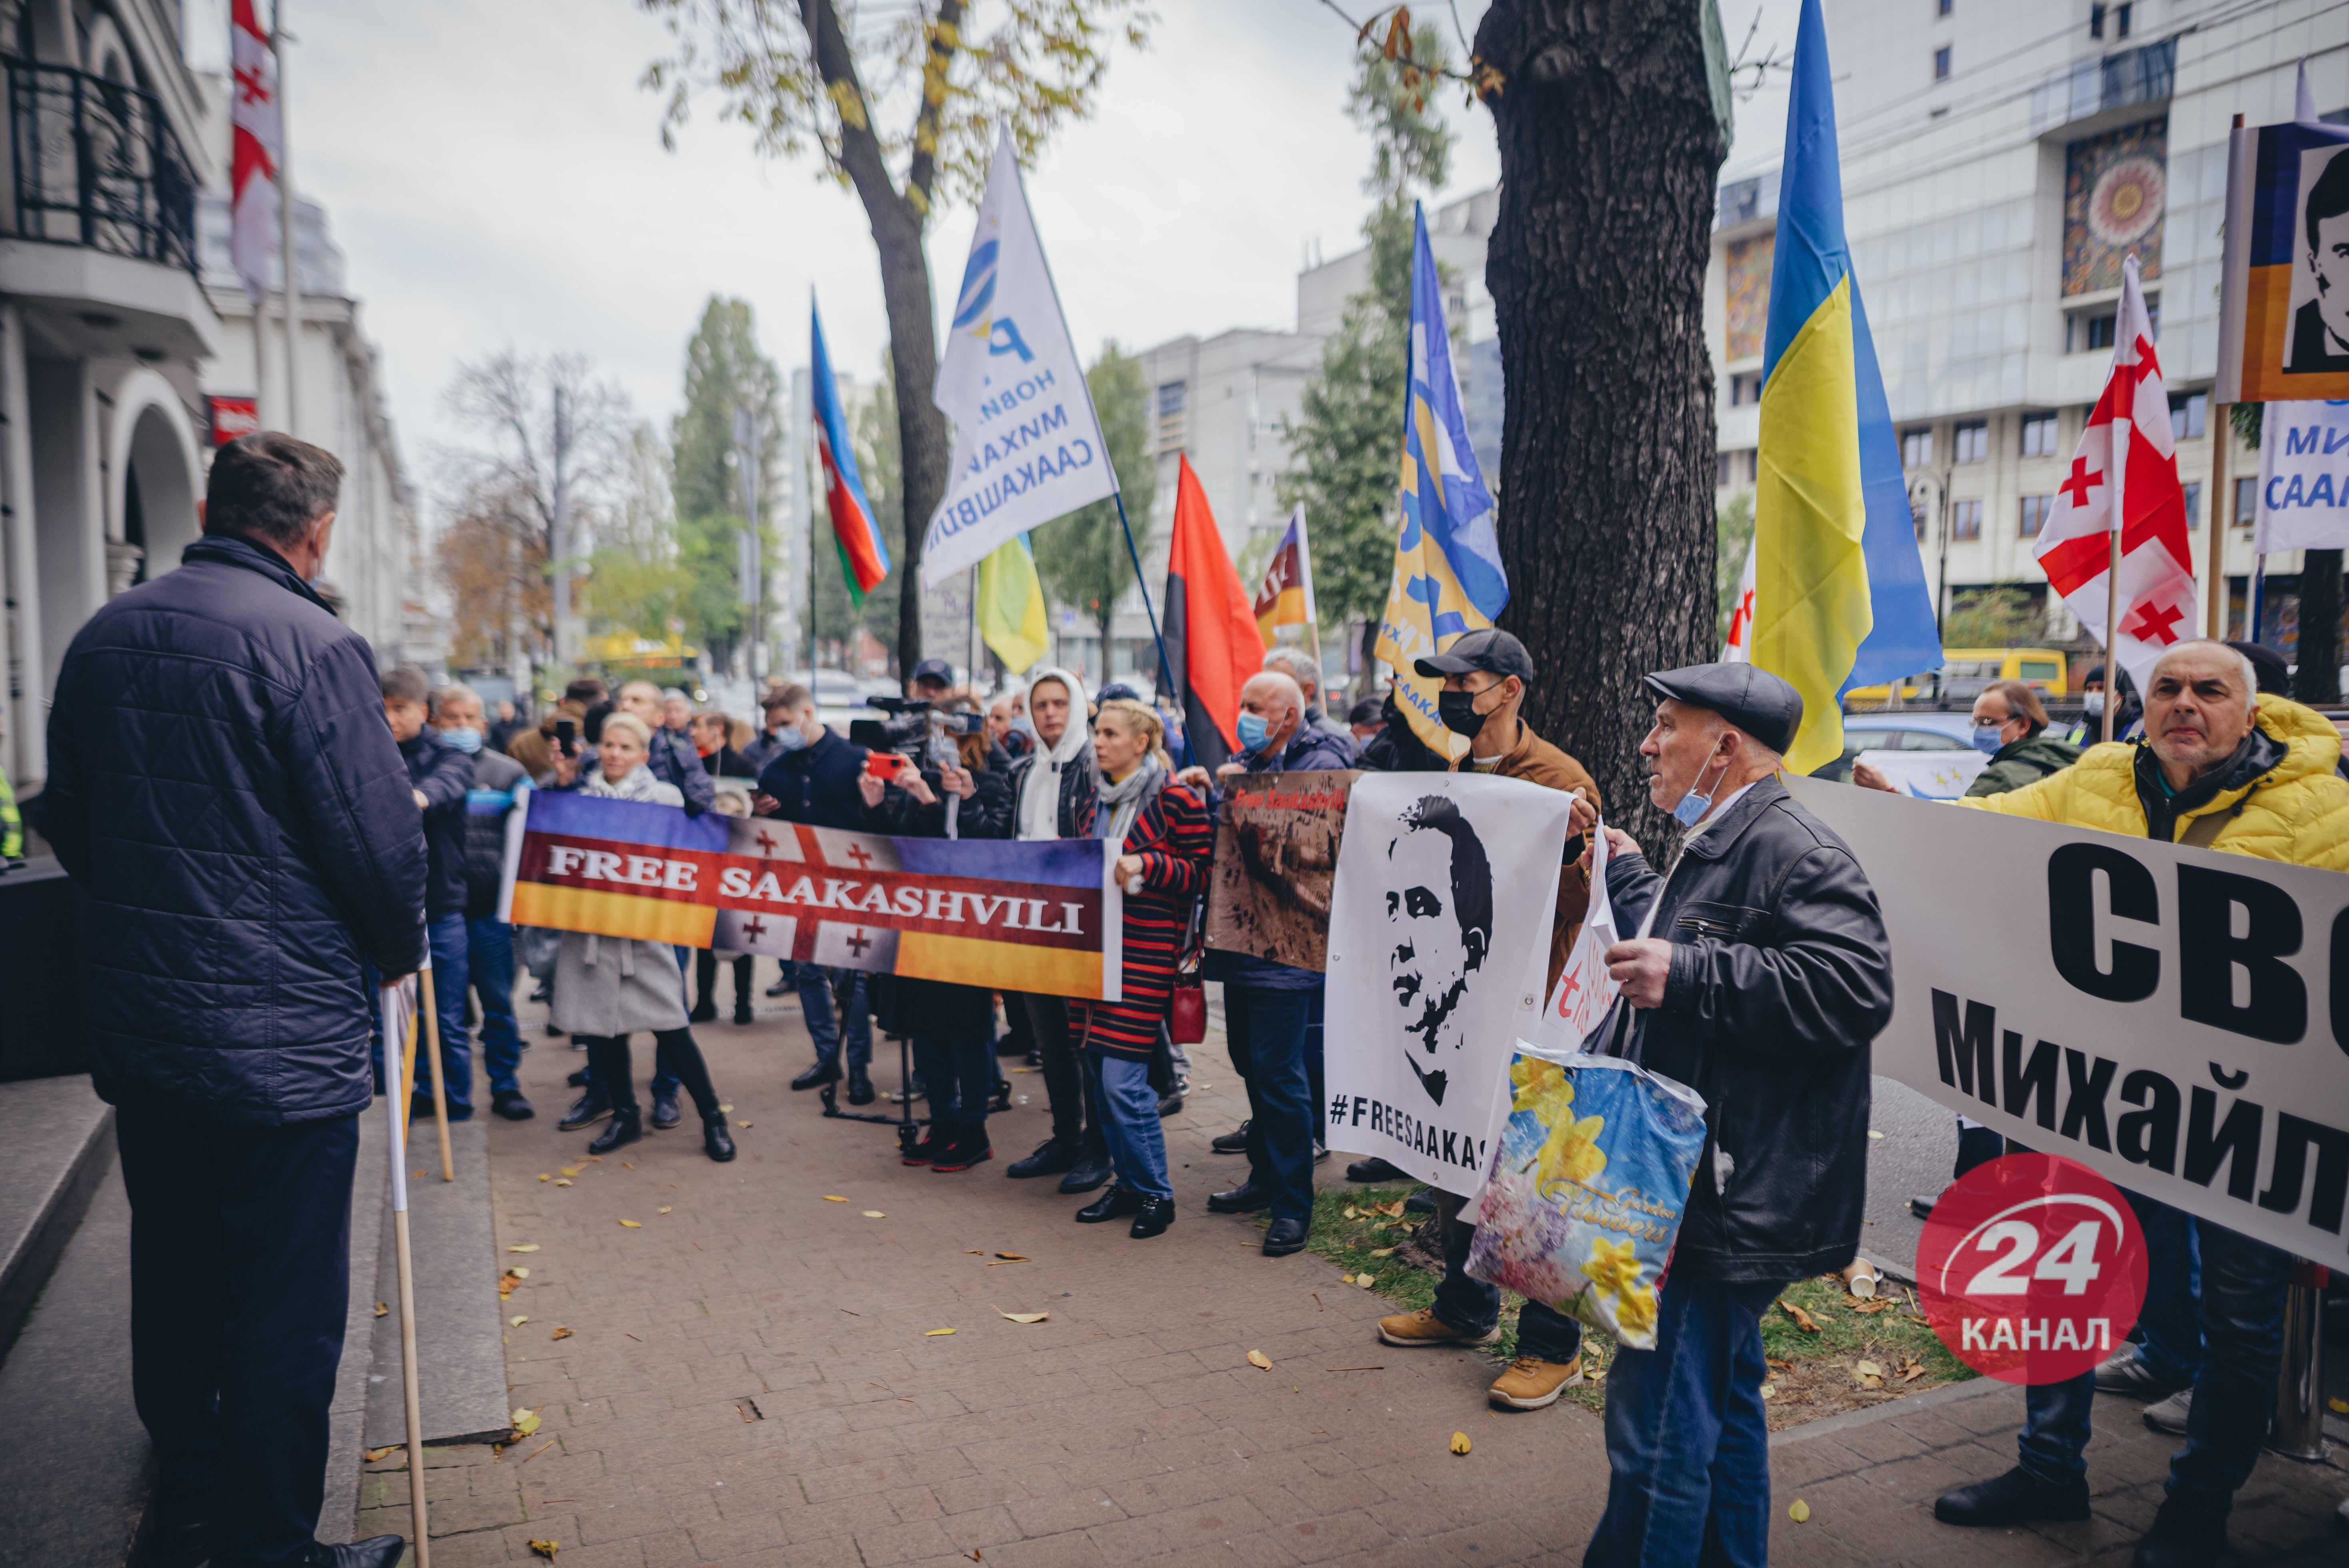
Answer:
<path fill-rule="evenodd" d="M 1583 1568 L 1769 1561 L 1762 1312 L 1778 1284 L 1675 1275 L 1656 1347 L 1607 1371 L 1607 1514 Z"/>

